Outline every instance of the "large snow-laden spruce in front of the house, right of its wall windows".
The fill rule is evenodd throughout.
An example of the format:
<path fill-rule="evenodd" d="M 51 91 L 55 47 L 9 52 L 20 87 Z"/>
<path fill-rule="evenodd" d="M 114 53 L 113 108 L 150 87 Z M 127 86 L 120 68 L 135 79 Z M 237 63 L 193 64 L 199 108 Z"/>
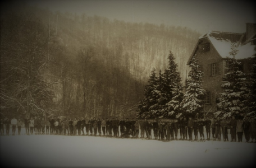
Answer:
<path fill-rule="evenodd" d="M 244 101 L 249 90 L 245 78 L 245 73 L 239 70 L 241 64 L 235 59 L 237 50 L 232 49 L 230 55 L 232 58 L 227 58 L 226 66 L 227 73 L 225 74 L 225 83 L 221 85 L 223 92 L 220 94 L 220 102 L 217 107 L 220 109 L 214 115 L 222 118 L 241 115 L 244 113 Z"/>

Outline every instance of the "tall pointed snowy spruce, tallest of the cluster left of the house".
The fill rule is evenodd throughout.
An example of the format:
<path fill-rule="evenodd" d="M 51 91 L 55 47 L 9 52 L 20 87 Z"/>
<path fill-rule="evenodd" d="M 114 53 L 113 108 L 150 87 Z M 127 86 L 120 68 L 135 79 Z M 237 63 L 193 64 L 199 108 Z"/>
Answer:
<path fill-rule="evenodd" d="M 174 61 L 172 52 L 168 55 L 168 67 L 164 70 L 161 85 L 161 96 L 158 99 L 159 116 L 164 118 L 175 118 L 180 112 L 182 101 L 182 84 L 180 72 L 177 71 L 177 64 Z"/>

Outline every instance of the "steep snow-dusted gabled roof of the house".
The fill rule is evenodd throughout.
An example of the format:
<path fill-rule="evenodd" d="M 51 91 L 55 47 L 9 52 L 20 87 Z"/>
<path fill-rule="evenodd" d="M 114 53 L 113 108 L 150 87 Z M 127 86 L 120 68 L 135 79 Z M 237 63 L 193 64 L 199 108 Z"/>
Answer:
<path fill-rule="evenodd" d="M 256 51 L 254 50 L 255 45 L 246 43 L 244 35 L 245 34 L 233 32 L 208 31 L 207 34 L 199 37 L 195 49 L 199 45 L 200 39 L 208 38 L 222 58 L 232 57 L 230 52 L 232 52 L 232 47 L 234 46 L 236 47 L 235 49 L 238 50 L 237 54 L 235 55 L 236 59 L 253 57 L 253 55 L 256 54 Z M 193 50 L 190 59 L 195 54 L 195 49 Z"/>

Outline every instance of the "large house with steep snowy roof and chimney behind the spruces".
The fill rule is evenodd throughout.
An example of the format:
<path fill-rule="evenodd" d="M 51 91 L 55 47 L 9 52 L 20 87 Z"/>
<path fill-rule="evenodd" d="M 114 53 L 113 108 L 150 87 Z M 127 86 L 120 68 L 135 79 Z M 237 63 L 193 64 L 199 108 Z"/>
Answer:
<path fill-rule="evenodd" d="M 238 50 L 235 55 L 241 64 L 241 71 L 250 73 L 255 57 L 256 24 L 246 24 L 246 32 L 243 34 L 232 32 L 209 31 L 201 36 L 190 55 L 198 58 L 200 70 L 204 72 L 203 88 L 207 92 L 204 100 L 205 114 L 212 115 L 217 111 L 217 98 L 222 92 L 221 84 L 226 73 L 226 58 L 230 56 L 231 48 Z"/>

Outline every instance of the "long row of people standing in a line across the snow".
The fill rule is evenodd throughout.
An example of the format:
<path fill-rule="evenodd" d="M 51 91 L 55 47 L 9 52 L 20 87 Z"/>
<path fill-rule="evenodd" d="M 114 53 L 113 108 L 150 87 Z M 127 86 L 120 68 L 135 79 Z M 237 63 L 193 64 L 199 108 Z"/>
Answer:
<path fill-rule="evenodd" d="M 223 120 L 219 117 L 213 119 L 180 118 L 172 120 L 147 120 L 107 118 L 58 118 L 51 117 L 48 120 L 40 117 L 25 118 L 24 120 L 13 117 L 11 120 L 1 119 L 1 136 L 4 136 L 4 128 L 9 136 L 10 126 L 12 135 L 24 124 L 26 134 L 57 134 L 68 136 L 107 136 L 116 138 L 147 138 L 164 141 L 188 140 L 188 141 L 229 141 L 228 129 L 231 134 L 231 142 L 242 142 L 243 134 L 246 142 L 256 142 L 256 121 L 253 118 Z M 204 128 L 206 136 L 204 135 Z M 153 135 L 152 135 L 153 130 Z M 180 130 L 180 131 L 179 131 Z M 140 137 L 139 137 L 140 133 Z M 193 140 L 194 133 L 194 140 Z M 200 139 L 199 139 L 199 137 Z"/>

